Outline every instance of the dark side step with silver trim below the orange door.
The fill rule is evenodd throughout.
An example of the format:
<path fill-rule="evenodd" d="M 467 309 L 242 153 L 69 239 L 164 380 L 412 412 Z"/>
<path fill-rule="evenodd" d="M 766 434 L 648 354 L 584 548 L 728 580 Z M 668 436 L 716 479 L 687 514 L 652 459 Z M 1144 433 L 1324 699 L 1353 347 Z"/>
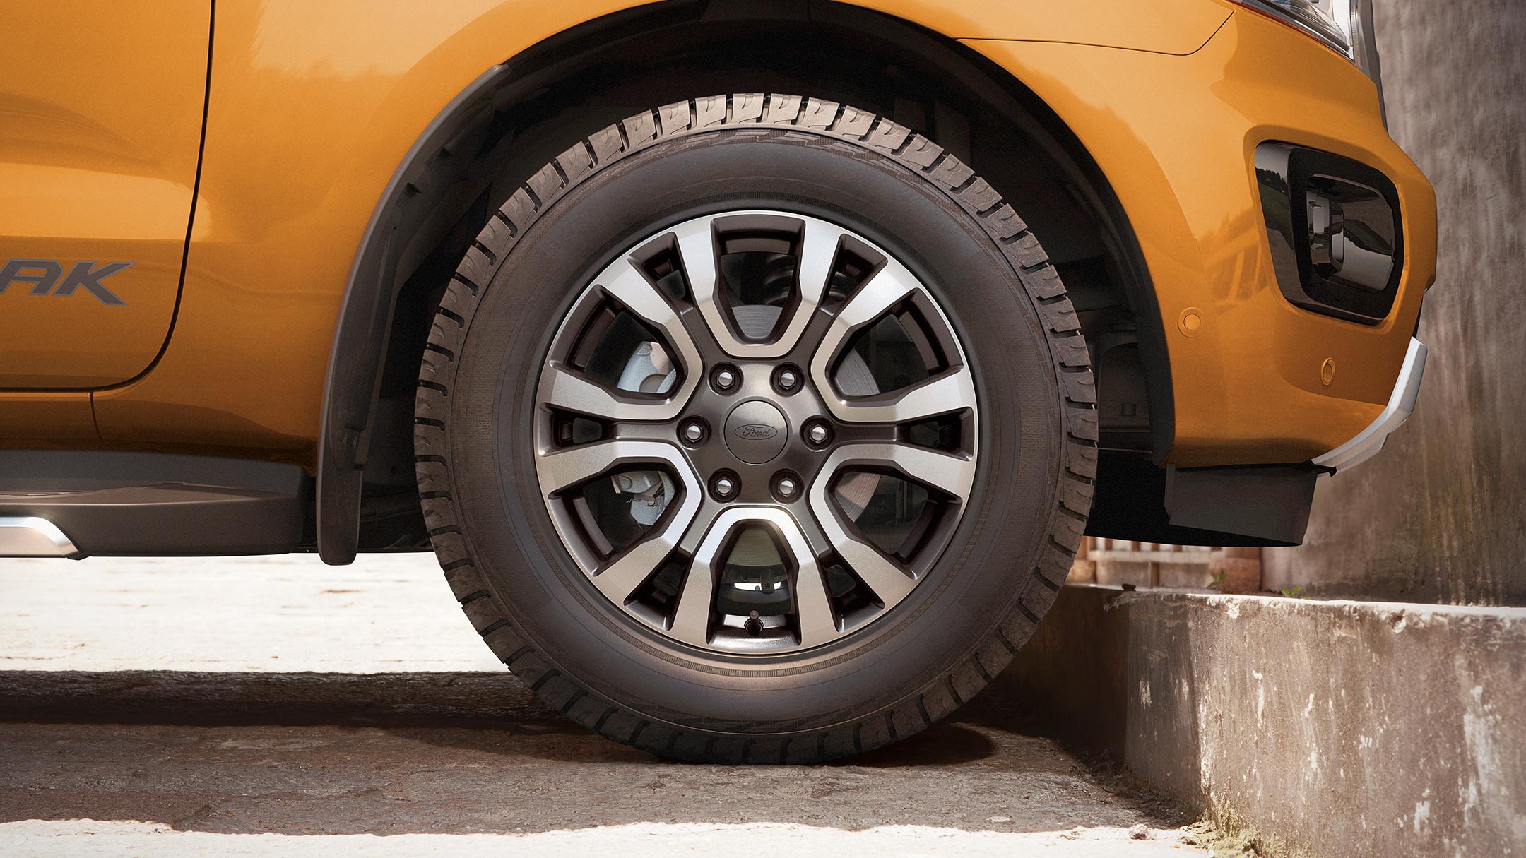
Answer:
<path fill-rule="evenodd" d="M 284 554 L 310 496 L 296 464 L 0 450 L 0 557 Z"/>

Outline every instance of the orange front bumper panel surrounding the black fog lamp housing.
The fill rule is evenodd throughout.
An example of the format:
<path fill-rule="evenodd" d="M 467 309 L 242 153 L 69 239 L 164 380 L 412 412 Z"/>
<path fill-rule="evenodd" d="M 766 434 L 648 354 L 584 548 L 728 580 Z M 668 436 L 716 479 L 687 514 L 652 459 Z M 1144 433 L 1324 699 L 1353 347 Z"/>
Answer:
<path fill-rule="evenodd" d="M 1199 50 L 969 41 L 1027 84 L 1096 160 L 1149 267 L 1181 467 L 1325 456 L 1384 414 L 1436 272 L 1436 197 L 1389 137 L 1373 82 L 1314 40 L 1235 12 Z M 1256 176 L 1267 142 L 1393 183 L 1393 302 L 1352 321 L 1279 287 Z M 1196 316 L 1193 319 L 1193 316 Z"/>

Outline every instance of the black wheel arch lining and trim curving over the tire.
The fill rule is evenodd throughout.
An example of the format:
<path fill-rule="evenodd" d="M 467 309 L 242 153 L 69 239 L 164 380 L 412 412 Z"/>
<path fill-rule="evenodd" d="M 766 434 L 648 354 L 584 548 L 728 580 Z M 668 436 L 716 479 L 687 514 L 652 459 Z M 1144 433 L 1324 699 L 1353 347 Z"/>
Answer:
<path fill-rule="evenodd" d="M 792 47 L 780 49 L 777 61 L 760 56 L 763 50 L 739 60 L 737 52 L 760 35 Z M 819 52 L 810 53 L 813 44 L 836 50 L 821 63 Z M 655 55 L 662 61 L 647 61 Z M 801 60 L 807 55 L 809 66 Z M 868 82 L 855 75 L 865 67 L 877 69 Z M 609 105 L 584 98 L 606 84 L 623 98 Z M 876 84 L 916 98 L 877 98 Z M 1042 206 L 1019 214 L 1051 256 L 1056 247 L 1076 255 L 1062 276 L 1085 281 L 1071 289 L 1094 304 L 1077 307 L 1083 325 L 1090 311 L 1099 330 L 1112 330 L 1120 319 L 1135 330 L 1129 336 L 1143 369 L 1138 392 L 1151 409 L 1138 453 L 1155 463 L 1164 458 L 1172 440 L 1170 373 L 1149 269 L 1100 168 L 1029 87 L 955 40 L 856 6 L 658 3 L 595 18 L 487 69 L 433 118 L 394 171 L 357 247 L 325 377 L 316 496 L 325 562 L 427 542 L 412 482 L 418 356 L 455 267 L 452 253 L 459 258 L 481 223 L 528 176 L 513 171 L 549 160 L 559 150 L 546 147 L 559 139 L 565 145 L 665 102 L 639 102 L 644 93 L 668 101 L 705 95 L 661 95 L 684 87 L 775 89 L 877 108 L 928 131 L 1009 200 Z M 638 107 L 618 113 L 627 101 Z M 559 136 L 568 128 L 583 131 Z M 1013 133 L 1019 136 L 1003 137 Z M 1064 215 L 1056 214 L 1061 209 Z M 1108 337 L 1094 334 L 1087 339 L 1093 363 L 1102 368 L 1097 350 L 1108 347 Z"/>

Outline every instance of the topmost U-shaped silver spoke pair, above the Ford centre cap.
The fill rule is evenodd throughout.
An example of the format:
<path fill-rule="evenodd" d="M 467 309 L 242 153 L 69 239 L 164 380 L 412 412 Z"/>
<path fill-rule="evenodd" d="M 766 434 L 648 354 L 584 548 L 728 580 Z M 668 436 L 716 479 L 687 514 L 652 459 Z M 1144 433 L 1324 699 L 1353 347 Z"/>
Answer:
<path fill-rule="evenodd" d="M 769 342 L 743 342 L 737 339 L 725 321 L 725 308 L 722 307 L 725 296 L 720 295 L 719 247 L 716 246 L 716 235 L 711 227 L 713 221 L 690 221 L 674 231 L 694 305 L 699 308 L 707 330 L 726 354 L 743 359 L 768 359 L 789 354 L 810 322 L 810 316 L 821 304 L 821 296 L 827 290 L 827 279 L 832 276 L 832 263 L 836 260 L 838 244 L 842 240 L 844 231 L 815 218 L 800 220 L 804 223 L 797 261 L 800 289 L 789 322 Z"/>

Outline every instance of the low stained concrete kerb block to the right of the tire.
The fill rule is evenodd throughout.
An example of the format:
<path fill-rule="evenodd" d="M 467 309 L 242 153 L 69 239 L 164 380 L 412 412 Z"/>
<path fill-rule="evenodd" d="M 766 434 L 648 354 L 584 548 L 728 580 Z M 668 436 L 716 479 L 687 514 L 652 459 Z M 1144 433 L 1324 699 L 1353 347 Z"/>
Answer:
<path fill-rule="evenodd" d="M 993 693 L 1312 856 L 1526 855 L 1526 609 L 1067 586 Z"/>

